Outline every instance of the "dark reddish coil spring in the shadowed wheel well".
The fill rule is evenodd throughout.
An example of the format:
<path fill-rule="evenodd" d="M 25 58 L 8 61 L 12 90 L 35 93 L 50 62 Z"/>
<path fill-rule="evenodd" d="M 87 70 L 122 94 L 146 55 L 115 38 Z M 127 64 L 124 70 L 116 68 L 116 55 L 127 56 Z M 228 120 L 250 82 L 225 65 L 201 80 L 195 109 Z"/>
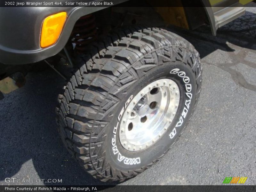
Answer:
<path fill-rule="evenodd" d="M 95 17 L 92 14 L 81 17 L 75 24 L 71 34 L 71 42 L 78 53 L 85 50 L 86 45 L 97 37 Z"/>

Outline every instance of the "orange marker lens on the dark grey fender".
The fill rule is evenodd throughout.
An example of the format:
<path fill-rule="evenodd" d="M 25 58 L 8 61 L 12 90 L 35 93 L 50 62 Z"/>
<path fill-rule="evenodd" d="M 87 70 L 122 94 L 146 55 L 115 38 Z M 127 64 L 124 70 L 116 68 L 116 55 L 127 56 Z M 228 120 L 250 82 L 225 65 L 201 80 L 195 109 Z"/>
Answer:
<path fill-rule="evenodd" d="M 42 48 L 48 47 L 58 40 L 66 18 L 67 13 L 60 12 L 44 19 L 40 41 Z"/>

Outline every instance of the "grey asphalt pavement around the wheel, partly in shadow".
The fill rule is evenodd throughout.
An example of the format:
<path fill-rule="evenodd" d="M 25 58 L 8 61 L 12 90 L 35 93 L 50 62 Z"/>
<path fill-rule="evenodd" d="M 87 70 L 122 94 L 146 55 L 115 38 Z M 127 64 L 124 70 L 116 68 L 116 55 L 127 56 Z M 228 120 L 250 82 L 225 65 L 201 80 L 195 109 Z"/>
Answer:
<path fill-rule="evenodd" d="M 254 7 L 251 7 L 254 6 Z M 176 32 L 201 55 L 202 92 L 180 140 L 159 162 L 121 185 L 221 185 L 225 177 L 256 184 L 256 7 L 220 28 Z M 176 29 L 174 29 L 176 30 Z M 55 123 L 63 81 L 54 71 L 29 73 L 24 87 L 0 100 L 0 185 L 5 178 L 62 179 L 100 185 L 62 145 Z M 38 181 L 38 180 L 37 180 Z M 52 184 L 36 183 L 26 184 Z"/>

